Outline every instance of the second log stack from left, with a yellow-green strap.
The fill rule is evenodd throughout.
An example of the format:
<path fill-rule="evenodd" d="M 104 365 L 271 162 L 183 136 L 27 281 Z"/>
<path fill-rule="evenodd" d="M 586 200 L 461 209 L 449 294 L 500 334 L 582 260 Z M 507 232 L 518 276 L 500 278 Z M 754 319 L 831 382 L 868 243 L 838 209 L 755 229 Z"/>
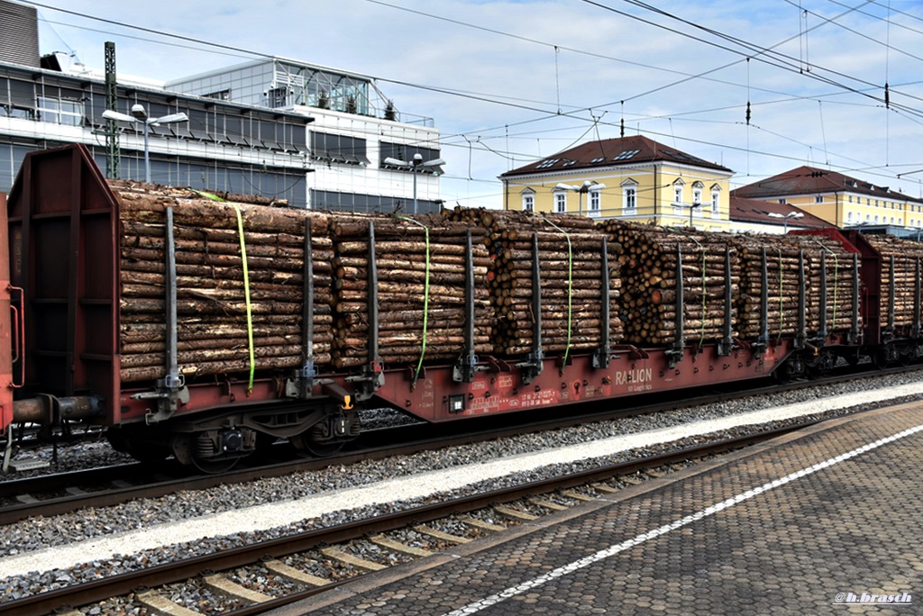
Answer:
<path fill-rule="evenodd" d="M 367 364 L 369 357 L 369 223 L 374 223 L 378 279 L 379 359 L 385 364 L 455 360 L 465 349 L 465 283 L 469 227 L 442 217 L 354 216 L 332 227 L 336 368 Z M 428 230 L 428 255 L 426 234 Z M 484 233 L 472 229 L 474 352 L 492 350 Z M 428 267 L 428 301 L 427 291 Z M 426 329 L 424 323 L 426 319 Z M 424 347 L 424 345 L 426 345 Z M 425 352 L 424 352 L 425 351 Z"/>

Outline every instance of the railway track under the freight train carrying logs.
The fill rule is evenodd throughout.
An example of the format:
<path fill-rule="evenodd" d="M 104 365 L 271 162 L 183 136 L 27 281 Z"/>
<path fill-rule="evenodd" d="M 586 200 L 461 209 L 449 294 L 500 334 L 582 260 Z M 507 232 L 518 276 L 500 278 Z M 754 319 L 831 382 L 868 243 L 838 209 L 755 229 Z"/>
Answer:
<path fill-rule="evenodd" d="M 631 415 L 714 404 L 737 397 L 759 396 L 793 391 L 820 385 L 835 385 L 862 376 L 903 373 L 918 368 L 902 367 L 887 371 L 837 374 L 823 379 L 799 381 L 785 385 L 765 384 L 758 388 L 723 389 L 698 392 L 681 401 L 665 396 L 644 398 L 643 404 L 630 409 L 587 409 L 560 416 L 560 411 L 535 413 L 528 423 L 521 415 L 467 421 L 458 426 L 410 424 L 364 432 L 349 448 L 337 456 L 319 459 L 292 459 L 293 452 L 277 445 L 275 459 L 248 464 L 220 475 L 192 475 L 189 468 L 166 460 L 159 465 L 134 463 L 118 467 L 92 468 L 23 480 L 0 482 L 0 524 L 11 524 L 34 516 L 62 515 L 84 507 L 108 506 L 134 499 L 157 498 L 180 490 L 206 490 L 222 484 L 238 484 L 294 472 L 319 470 L 331 466 L 349 466 L 361 460 L 410 455 L 442 447 L 470 444 L 487 439 L 554 430 L 588 421 L 610 421 Z"/>

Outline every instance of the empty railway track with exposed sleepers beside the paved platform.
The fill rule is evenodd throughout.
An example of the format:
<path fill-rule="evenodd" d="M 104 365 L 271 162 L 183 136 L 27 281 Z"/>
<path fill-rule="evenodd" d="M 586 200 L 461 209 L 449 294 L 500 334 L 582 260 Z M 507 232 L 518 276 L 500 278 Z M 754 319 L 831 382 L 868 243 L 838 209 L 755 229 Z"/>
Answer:
<path fill-rule="evenodd" d="M 199 612 L 188 610 L 171 599 L 176 596 L 177 588 L 192 585 L 208 589 L 212 595 L 220 597 L 223 601 L 221 613 L 234 616 L 263 613 L 327 592 L 357 575 L 387 568 L 390 563 L 426 558 L 452 545 L 533 521 L 541 515 L 617 492 L 627 485 L 663 476 L 677 466 L 688 466 L 698 460 L 763 442 L 813 423 L 809 421 L 778 430 L 741 435 L 669 454 L 417 506 L 390 515 L 302 532 L 282 539 L 252 543 L 207 556 L 68 586 L 6 602 L 2 607 L 28 616 L 49 614 L 60 610 L 62 606 L 86 606 L 115 601 L 120 605 L 132 603 L 145 606 L 155 613 L 195 614 Z M 446 527 L 463 530 L 447 532 L 440 529 Z M 426 547 L 413 545 L 406 539 L 408 536 L 425 538 Z M 369 557 L 368 552 L 376 555 Z M 298 566 L 299 563 L 301 566 Z M 318 575 L 318 567 L 321 571 L 332 573 Z M 250 569 L 258 570 L 258 574 L 247 574 L 246 571 Z M 252 584 L 241 583 L 242 578 L 267 575 L 284 582 L 274 586 L 272 594 L 248 587 Z M 340 579 L 336 579 L 338 575 Z M 138 591 L 138 588 L 149 590 Z"/>

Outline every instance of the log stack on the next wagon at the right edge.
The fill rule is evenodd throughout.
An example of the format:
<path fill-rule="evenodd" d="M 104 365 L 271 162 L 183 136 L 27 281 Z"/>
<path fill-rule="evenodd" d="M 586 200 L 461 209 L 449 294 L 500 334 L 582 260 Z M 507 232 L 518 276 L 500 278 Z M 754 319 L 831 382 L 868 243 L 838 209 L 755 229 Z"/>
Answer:
<path fill-rule="evenodd" d="M 923 267 L 923 245 L 899 240 L 892 235 L 866 235 L 865 238 L 881 255 L 881 326 L 916 325 L 917 276 L 923 276 L 923 271 L 920 271 Z M 893 323 L 889 323 L 892 280 L 894 317 Z"/>

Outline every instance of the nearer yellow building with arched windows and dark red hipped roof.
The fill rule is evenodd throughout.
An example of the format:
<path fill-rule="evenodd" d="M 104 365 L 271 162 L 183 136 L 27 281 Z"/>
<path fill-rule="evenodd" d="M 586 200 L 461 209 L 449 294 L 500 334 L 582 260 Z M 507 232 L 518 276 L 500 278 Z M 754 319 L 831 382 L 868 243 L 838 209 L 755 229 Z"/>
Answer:
<path fill-rule="evenodd" d="M 590 141 L 503 173 L 504 208 L 729 231 L 733 172 L 645 136 Z"/>

